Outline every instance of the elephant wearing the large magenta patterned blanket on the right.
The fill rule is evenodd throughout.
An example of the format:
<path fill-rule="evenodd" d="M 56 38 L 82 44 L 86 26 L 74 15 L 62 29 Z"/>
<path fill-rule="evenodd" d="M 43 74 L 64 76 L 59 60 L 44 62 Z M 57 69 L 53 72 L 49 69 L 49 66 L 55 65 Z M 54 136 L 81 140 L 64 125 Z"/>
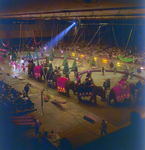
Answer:
<path fill-rule="evenodd" d="M 116 86 L 116 87 L 117 87 L 117 86 Z M 128 97 L 127 97 L 127 98 L 123 98 L 123 99 L 128 99 L 128 100 L 130 100 L 131 95 L 132 95 L 133 98 L 135 99 L 135 89 L 136 89 L 136 85 L 133 84 L 133 83 L 130 83 L 130 84 L 129 84 L 129 89 L 130 89 L 130 93 L 128 93 L 128 94 L 129 94 Z M 125 90 L 125 91 L 126 91 L 126 90 Z M 123 94 L 123 95 L 124 95 L 124 94 Z M 111 105 L 110 102 L 111 102 L 112 99 L 115 101 L 115 103 L 117 102 L 116 93 L 115 93 L 114 88 L 112 88 L 112 89 L 110 90 L 108 105 Z"/>

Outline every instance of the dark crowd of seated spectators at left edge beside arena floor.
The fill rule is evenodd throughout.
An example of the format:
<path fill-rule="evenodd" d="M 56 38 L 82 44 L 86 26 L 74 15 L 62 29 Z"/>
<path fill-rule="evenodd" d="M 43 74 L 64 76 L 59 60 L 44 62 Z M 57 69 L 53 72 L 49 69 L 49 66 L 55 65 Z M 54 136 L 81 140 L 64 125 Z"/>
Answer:
<path fill-rule="evenodd" d="M 31 102 L 30 98 L 24 97 L 21 92 L 3 80 L 0 80 L 0 102 L 5 112 L 15 113 L 34 108 L 34 103 Z"/>

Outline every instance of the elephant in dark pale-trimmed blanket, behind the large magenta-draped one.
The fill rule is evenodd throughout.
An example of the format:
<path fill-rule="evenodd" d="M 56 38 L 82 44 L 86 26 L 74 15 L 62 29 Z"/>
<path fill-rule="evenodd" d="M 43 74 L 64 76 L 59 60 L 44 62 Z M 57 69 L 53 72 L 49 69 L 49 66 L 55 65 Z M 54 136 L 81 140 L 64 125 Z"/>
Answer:
<path fill-rule="evenodd" d="M 82 98 L 81 98 L 81 93 L 86 93 L 86 88 L 84 86 L 84 84 L 80 84 L 78 86 L 78 99 L 79 101 L 82 101 Z M 90 96 L 90 102 L 92 102 L 92 100 L 94 100 L 94 103 L 97 104 L 97 98 L 96 96 L 100 96 L 101 97 L 101 101 L 106 101 L 106 97 L 105 97 L 105 92 L 103 90 L 103 88 L 101 86 L 92 86 L 91 87 L 91 91 L 92 91 L 92 94 L 91 95 L 88 95 Z"/>

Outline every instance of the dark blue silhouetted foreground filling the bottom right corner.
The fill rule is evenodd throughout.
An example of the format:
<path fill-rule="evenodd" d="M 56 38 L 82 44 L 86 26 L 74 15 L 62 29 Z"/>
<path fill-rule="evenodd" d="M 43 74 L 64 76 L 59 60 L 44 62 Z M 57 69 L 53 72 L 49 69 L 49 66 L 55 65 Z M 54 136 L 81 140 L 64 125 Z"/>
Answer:
<path fill-rule="evenodd" d="M 131 124 L 116 132 L 80 146 L 75 150 L 144 150 L 145 119 L 140 114 L 131 112 Z"/>

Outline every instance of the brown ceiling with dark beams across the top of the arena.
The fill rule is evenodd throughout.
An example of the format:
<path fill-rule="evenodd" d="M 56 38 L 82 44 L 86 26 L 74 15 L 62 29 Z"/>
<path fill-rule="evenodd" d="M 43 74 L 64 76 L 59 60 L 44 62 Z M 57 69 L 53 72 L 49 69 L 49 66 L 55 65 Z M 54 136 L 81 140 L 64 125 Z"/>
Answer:
<path fill-rule="evenodd" d="M 0 19 L 145 19 L 144 0 L 3 0 Z"/>

